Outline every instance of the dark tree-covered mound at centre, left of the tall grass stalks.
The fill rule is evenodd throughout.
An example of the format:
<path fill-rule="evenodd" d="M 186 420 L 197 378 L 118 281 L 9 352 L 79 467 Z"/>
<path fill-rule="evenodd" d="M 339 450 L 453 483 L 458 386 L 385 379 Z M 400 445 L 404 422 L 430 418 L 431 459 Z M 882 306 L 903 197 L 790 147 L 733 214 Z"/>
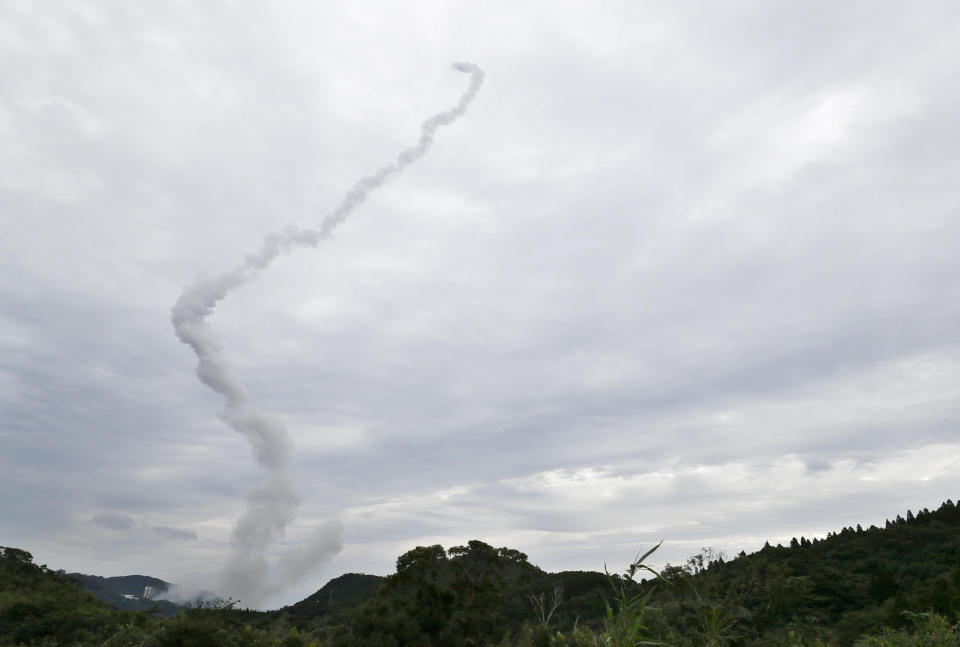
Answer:
<path fill-rule="evenodd" d="M 547 573 L 520 551 L 471 540 L 446 551 L 418 546 L 397 559 L 393 575 L 344 575 L 275 613 L 304 630 L 322 627 L 345 644 L 374 634 L 414 640 L 412 626 L 443 643 L 443 636 L 502 636 L 538 609 L 552 626 L 599 626 L 609 587 L 603 573 Z M 553 609 L 555 591 L 562 602 Z"/>

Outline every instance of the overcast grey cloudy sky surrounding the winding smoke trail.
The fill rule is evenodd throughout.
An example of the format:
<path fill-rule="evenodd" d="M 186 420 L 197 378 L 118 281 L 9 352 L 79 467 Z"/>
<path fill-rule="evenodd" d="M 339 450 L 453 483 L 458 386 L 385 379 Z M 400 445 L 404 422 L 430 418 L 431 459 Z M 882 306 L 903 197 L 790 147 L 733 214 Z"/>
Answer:
<path fill-rule="evenodd" d="M 662 565 L 957 499 L 958 33 L 949 1 L 0 3 L 0 544 L 222 585 L 266 474 L 171 307 L 413 145 L 455 61 L 466 114 L 208 319 L 293 446 L 267 559 L 305 565 L 253 604 L 417 545 Z"/>

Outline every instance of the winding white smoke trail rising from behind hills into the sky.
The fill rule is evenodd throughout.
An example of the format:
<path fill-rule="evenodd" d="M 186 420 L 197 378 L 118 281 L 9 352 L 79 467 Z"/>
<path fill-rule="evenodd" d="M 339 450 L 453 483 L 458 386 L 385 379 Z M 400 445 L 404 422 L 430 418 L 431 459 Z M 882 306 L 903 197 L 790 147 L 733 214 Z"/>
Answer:
<path fill-rule="evenodd" d="M 470 75 L 470 85 L 454 106 L 423 122 L 416 144 L 401 151 L 393 163 L 358 180 L 316 229 L 291 226 L 283 232 L 265 236 L 259 251 L 248 254 L 232 270 L 198 279 L 183 291 L 171 309 L 177 337 L 197 356 L 197 376 L 223 396 L 221 419 L 249 441 L 257 463 L 266 471 L 265 480 L 248 493 L 246 512 L 233 529 L 233 550 L 224 581 L 224 592 L 240 598 L 249 606 L 260 604 L 267 595 L 292 583 L 294 578 L 303 577 L 311 567 L 339 552 L 343 529 L 339 522 L 322 525 L 302 548 L 278 560 L 276 574 L 284 580 L 281 582 L 271 577 L 267 551 L 283 536 L 300 505 L 300 496 L 289 473 L 293 443 L 283 421 L 260 410 L 251 401 L 239 376 L 227 362 L 223 346 L 207 318 L 213 314 L 217 303 L 232 290 L 255 280 L 281 252 L 316 247 L 321 240 L 328 238 L 372 191 L 402 173 L 430 150 L 437 130 L 452 124 L 466 112 L 483 83 L 483 71 L 477 65 L 454 63 L 453 67 Z"/>

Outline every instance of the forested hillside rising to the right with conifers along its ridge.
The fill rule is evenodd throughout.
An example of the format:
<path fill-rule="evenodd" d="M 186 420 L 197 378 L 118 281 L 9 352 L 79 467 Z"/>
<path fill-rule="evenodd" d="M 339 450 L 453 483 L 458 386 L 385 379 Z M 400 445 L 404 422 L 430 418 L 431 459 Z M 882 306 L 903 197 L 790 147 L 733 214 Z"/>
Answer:
<path fill-rule="evenodd" d="M 791 632 L 811 644 L 850 644 L 881 626 L 904 627 L 904 611 L 960 612 L 960 507 L 948 500 L 882 528 L 846 527 L 729 561 L 705 550 L 662 575 L 669 584 L 652 598 L 658 631 L 677 644 L 709 619 L 743 644 L 784 644 Z"/>

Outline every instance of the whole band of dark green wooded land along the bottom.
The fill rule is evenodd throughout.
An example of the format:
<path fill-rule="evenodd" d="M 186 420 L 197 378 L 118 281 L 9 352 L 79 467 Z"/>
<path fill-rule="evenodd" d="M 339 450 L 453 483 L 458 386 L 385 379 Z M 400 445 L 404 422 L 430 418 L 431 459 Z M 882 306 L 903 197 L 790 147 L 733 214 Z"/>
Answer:
<path fill-rule="evenodd" d="M 30 553 L 0 549 L 0 646 L 958 646 L 960 507 L 654 572 L 546 573 L 481 541 L 418 546 L 386 578 L 348 574 L 257 612 L 120 611 Z M 643 579 L 641 576 L 646 576 Z M 641 579 L 637 579 L 641 578 Z"/>

